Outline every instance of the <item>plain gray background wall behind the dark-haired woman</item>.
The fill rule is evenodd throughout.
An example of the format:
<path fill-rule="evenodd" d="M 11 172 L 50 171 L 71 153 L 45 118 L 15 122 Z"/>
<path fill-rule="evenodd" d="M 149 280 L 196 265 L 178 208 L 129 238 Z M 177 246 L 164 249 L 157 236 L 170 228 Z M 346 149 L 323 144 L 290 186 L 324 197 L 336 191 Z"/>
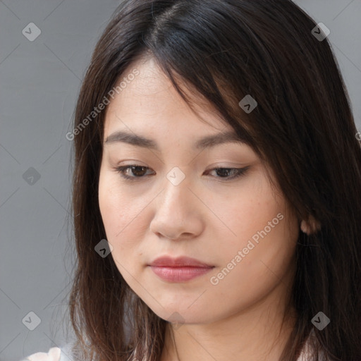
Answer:
<path fill-rule="evenodd" d="M 361 130 L 361 0 L 295 2 L 331 30 Z M 94 44 L 118 4 L 0 0 L 0 361 L 66 342 L 74 257 L 66 133 Z M 22 33 L 29 23 L 41 30 L 32 42 Z M 32 27 L 27 36 L 35 34 Z M 29 312 L 41 319 L 33 331 Z"/>

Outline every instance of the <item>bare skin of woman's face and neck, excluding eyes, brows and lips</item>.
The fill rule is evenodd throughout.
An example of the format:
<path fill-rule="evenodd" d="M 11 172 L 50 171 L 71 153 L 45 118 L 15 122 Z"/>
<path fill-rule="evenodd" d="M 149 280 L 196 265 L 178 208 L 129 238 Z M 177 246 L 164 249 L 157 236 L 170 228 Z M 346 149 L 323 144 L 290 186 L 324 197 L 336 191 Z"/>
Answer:
<path fill-rule="evenodd" d="M 170 322 L 161 361 L 276 361 L 295 322 L 292 311 L 281 329 L 300 221 L 252 148 L 228 142 L 192 149 L 200 137 L 233 130 L 212 106 L 195 98 L 197 116 L 152 59 L 131 64 L 126 74 L 134 68 L 140 74 L 106 109 L 104 142 L 127 130 L 157 142 L 159 152 L 104 143 L 99 207 L 113 247 L 109 257 L 135 293 Z M 128 181 L 116 167 L 131 164 L 149 169 Z M 230 181 L 212 171 L 245 166 L 246 173 Z M 185 175 L 178 185 L 166 178 L 173 167 Z M 212 284 L 211 277 L 280 213 L 283 219 Z M 214 269 L 190 281 L 164 281 L 147 267 L 161 255 L 186 255 Z"/>

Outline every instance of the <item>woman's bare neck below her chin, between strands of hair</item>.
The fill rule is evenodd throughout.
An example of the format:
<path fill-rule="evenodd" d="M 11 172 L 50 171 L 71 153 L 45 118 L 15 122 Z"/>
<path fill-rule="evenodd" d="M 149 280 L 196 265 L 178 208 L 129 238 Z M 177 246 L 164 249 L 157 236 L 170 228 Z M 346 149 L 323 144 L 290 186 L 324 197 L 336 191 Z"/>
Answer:
<path fill-rule="evenodd" d="M 208 324 L 168 325 L 161 361 L 278 361 L 295 324 L 295 312 L 285 317 L 279 293 Z M 278 297 L 276 297 L 278 296 Z"/>

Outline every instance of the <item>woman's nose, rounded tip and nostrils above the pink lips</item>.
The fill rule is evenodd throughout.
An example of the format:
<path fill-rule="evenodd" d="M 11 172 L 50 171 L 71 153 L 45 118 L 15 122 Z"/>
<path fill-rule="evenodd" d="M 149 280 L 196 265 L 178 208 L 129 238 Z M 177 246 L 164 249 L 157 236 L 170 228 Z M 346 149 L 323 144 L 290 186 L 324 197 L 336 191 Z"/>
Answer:
<path fill-rule="evenodd" d="M 173 185 L 166 180 L 164 190 L 154 202 L 154 217 L 149 229 L 160 238 L 194 238 L 204 228 L 204 204 L 185 180 Z M 203 208 L 202 208 L 203 207 Z"/>

